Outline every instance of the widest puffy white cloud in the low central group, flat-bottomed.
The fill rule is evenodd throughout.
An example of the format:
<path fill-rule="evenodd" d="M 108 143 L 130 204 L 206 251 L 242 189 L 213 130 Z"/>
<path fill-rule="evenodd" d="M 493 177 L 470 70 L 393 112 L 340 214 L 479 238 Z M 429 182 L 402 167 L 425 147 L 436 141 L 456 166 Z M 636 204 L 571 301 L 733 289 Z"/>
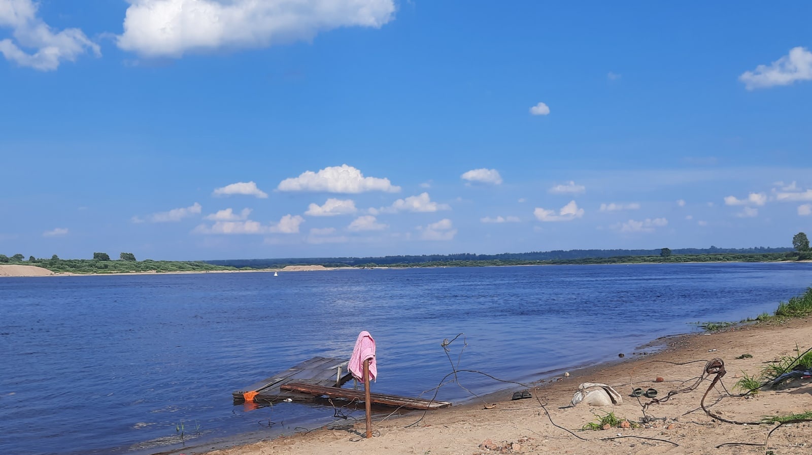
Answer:
<path fill-rule="evenodd" d="M 300 176 L 282 180 L 277 187 L 279 191 L 323 191 L 326 193 L 364 193 L 366 191 L 384 191 L 397 193 L 399 186 L 393 186 L 389 179 L 365 177 L 355 167 L 325 167 L 321 171 L 305 171 Z"/>

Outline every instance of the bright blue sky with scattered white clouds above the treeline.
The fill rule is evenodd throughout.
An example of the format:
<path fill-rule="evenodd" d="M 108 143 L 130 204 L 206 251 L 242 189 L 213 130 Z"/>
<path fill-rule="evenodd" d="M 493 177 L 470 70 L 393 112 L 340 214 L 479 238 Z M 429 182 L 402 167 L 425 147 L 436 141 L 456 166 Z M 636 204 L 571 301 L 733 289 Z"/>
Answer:
<path fill-rule="evenodd" d="M 0 253 L 788 246 L 808 2 L 0 0 Z"/>

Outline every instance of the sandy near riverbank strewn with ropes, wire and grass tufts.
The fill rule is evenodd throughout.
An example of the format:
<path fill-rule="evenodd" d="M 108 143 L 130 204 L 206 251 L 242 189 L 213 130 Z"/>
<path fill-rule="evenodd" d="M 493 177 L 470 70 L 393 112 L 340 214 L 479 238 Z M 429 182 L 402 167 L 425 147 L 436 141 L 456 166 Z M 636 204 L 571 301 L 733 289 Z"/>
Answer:
<path fill-rule="evenodd" d="M 645 321 L 641 321 L 645 323 Z M 407 427 L 421 418 L 421 413 L 401 418 L 374 419 L 375 436 L 359 439 L 364 428 L 363 415 L 356 416 L 360 423 L 351 431 L 317 430 L 307 435 L 295 435 L 274 440 L 263 440 L 235 448 L 215 450 L 209 455 L 472 455 L 490 453 L 607 453 L 607 454 L 763 454 L 765 448 L 747 445 L 715 446 L 724 443 L 762 444 L 774 425 L 736 425 L 719 422 L 698 409 L 702 394 L 709 387 L 705 380 L 693 391 L 680 393 L 669 401 L 652 404 L 646 415 L 655 418 L 650 425 L 640 428 L 611 428 L 606 431 L 577 431 L 585 423 L 595 420 L 595 414 L 614 412 L 617 416 L 638 422 L 643 418 L 641 404 L 629 397 L 633 387 L 656 388 L 658 397 L 667 392 L 681 390 L 696 382 L 702 375 L 704 362 L 673 365 L 665 362 L 692 362 L 721 358 L 727 368 L 722 382 L 731 392 L 742 371 L 752 375 L 768 361 L 780 355 L 794 356 L 812 345 L 812 318 L 795 319 L 785 323 L 762 323 L 735 327 L 726 332 L 710 335 L 678 336 L 669 340 L 667 349 L 641 358 L 618 359 L 611 365 L 596 366 L 552 384 L 531 390 L 533 398 L 511 401 L 514 390 L 496 394 L 487 401 L 493 409 L 485 409 L 482 401 L 455 406 L 448 410 L 426 414 L 417 425 Z M 711 349 L 715 351 L 709 352 Z M 752 358 L 736 359 L 743 353 Z M 664 382 L 654 382 L 658 376 Z M 595 408 L 581 403 L 569 407 L 572 393 L 582 382 L 610 384 L 623 396 L 623 404 Z M 447 387 L 454 387 L 449 385 Z M 551 424 L 542 406 L 550 411 L 555 424 L 568 428 L 585 440 L 579 440 Z M 766 415 L 795 414 L 812 410 L 812 382 L 806 380 L 801 387 L 784 391 L 761 392 L 755 397 L 728 397 L 717 386 L 708 393 L 706 405 L 723 418 L 737 421 L 758 421 Z M 617 436 L 615 440 L 601 440 Z M 776 455 L 812 453 L 812 423 L 794 423 L 778 428 L 770 438 L 770 449 Z M 672 443 L 662 440 L 672 441 Z M 481 444 L 489 441 L 490 448 Z M 678 445 L 676 445 L 678 444 Z M 185 453 L 192 453 L 185 451 Z M 197 452 L 199 453 L 199 452 Z"/>

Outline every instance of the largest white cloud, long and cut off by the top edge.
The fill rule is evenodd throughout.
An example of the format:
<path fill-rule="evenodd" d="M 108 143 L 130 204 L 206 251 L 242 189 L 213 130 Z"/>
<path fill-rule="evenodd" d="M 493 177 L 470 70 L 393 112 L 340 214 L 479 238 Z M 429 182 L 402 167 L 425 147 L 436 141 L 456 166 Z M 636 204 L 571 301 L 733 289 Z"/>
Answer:
<path fill-rule="evenodd" d="M 311 41 L 342 27 L 380 28 L 392 0 L 128 0 L 123 50 L 148 57 Z"/>

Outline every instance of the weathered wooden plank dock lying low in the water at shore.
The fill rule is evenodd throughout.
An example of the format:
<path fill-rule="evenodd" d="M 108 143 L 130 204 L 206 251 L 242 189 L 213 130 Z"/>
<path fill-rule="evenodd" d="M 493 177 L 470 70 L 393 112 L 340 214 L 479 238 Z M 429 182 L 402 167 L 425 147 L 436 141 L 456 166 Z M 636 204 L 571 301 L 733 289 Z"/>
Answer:
<path fill-rule="evenodd" d="M 314 357 L 270 378 L 232 392 L 234 404 L 255 402 L 271 404 L 286 399 L 318 402 L 329 399 L 334 405 L 352 405 L 364 401 L 364 391 L 341 388 L 352 374 L 347 359 Z M 374 405 L 391 406 L 404 410 L 437 410 L 450 406 L 447 401 L 429 401 L 421 398 L 399 397 L 383 393 L 370 393 Z"/>

